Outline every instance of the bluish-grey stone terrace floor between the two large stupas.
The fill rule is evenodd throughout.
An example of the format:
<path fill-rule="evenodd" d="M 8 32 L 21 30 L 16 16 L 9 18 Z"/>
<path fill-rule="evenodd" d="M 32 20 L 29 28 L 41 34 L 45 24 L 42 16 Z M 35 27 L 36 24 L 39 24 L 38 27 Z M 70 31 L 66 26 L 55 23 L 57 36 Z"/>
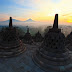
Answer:
<path fill-rule="evenodd" d="M 26 51 L 12 58 L 0 58 L 0 72 L 44 72 L 32 60 L 36 45 L 26 44 Z"/>

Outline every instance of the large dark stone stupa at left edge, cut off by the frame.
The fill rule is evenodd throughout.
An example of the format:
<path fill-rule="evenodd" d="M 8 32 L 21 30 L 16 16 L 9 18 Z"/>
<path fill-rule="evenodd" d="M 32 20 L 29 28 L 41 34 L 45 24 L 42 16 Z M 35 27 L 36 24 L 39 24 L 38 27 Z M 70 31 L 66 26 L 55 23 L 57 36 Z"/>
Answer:
<path fill-rule="evenodd" d="M 12 17 L 7 27 L 1 34 L 0 57 L 12 57 L 25 51 L 25 46 L 19 39 L 16 28 L 12 26 Z"/>

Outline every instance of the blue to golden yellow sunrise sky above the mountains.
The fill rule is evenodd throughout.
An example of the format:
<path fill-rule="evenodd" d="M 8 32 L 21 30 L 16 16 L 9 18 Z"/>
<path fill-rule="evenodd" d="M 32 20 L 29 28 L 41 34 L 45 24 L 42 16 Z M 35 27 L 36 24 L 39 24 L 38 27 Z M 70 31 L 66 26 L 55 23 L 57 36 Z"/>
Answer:
<path fill-rule="evenodd" d="M 60 24 L 72 24 L 72 0 L 0 0 L 0 21 L 11 16 L 21 21 L 31 18 L 53 23 L 56 13 Z"/>

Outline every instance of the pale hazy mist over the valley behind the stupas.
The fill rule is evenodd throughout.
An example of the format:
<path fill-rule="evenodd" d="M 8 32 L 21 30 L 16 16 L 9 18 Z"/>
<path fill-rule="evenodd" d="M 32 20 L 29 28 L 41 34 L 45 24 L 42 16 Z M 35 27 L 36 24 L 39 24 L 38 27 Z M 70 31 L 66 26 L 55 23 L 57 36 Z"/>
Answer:
<path fill-rule="evenodd" d="M 0 22 L 0 26 L 8 26 L 9 22 Z M 36 32 L 40 31 L 44 35 L 45 29 L 48 26 L 53 26 L 50 22 L 13 22 L 13 26 L 19 27 L 22 31 L 26 32 L 27 27 L 30 28 L 30 33 L 34 35 Z M 59 24 L 61 31 L 67 36 L 72 31 L 72 25 Z"/>

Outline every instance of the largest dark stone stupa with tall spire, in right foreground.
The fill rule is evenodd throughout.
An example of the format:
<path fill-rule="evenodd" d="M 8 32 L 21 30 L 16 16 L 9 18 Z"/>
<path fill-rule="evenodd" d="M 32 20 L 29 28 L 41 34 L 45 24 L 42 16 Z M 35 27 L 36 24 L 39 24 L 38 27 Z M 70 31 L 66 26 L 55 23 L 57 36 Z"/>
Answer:
<path fill-rule="evenodd" d="M 42 45 L 32 56 L 34 63 L 46 72 L 72 72 L 72 59 L 64 40 L 56 14 L 53 28 L 49 29 Z"/>

